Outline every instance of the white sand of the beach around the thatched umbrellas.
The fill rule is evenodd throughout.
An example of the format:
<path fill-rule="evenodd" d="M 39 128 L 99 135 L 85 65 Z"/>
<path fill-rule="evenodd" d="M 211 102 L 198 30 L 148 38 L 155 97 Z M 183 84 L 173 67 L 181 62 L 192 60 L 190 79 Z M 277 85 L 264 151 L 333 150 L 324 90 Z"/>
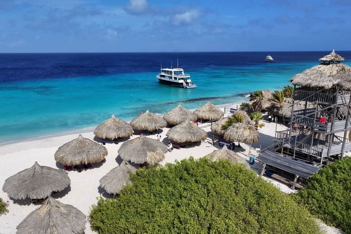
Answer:
<path fill-rule="evenodd" d="M 223 109 L 224 108 L 222 108 L 222 110 Z M 228 114 L 225 114 L 225 116 L 227 115 Z M 260 141 L 254 144 L 252 146 L 253 148 L 260 148 L 260 146 L 261 148 L 265 148 L 272 144 L 276 124 L 268 123 L 266 121 L 263 122 L 265 122 L 266 126 L 262 129 L 259 129 Z M 209 123 L 202 123 L 199 126 L 204 127 L 209 136 L 212 135 Z M 286 129 L 285 126 L 280 124 L 277 125 L 277 131 L 282 131 L 284 129 Z M 168 142 L 168 139 L 166 138 L 167 131 L 168 128 L 163 128 L 163 132 L 161 133 L 161 141 L 165 144 Z M 85 138 L 94 139 L 93 131 L 79 133 L 82 134 Z M 79 133 L 77 132 L 69 135 L 22 141 L 0 146 L 0 163 L 2 165 L 0 174 L 1 187 L 9 176 L 31 167 L 35 161 L 37 161 L 42 166 L 49 166 L 53 168 L 58 168 L 59 166 L 61 168 L 61 165 L 57 165 L 54 159 L 55 151 L 64 143 L 77 138 Z M 138 136 L 139 135 L 133 135 L 131 139 L 137 138 Z M 153 139 L 157 139 L 156 134 L 147 136 Z M 118 166 L 118 163 L 121 162 L 121 159 L 118 156 L 118 149 L 120 146 L 121 142 L 118 145 L 114 144 L 113 142 L 106 142 L 105 147 L 108 150 L 106 161 L 104 163 L 92 164 L 93 168 L 89 168 L 80 173 L 76 170 L 68 171 L 69 178 L 71 179 L 70 188 L 57 194 L 53 194 L 53 197 L 63 203 L 73 205 L 88 216 L 91 205 L 95 204 L 97 201 L 96 198 L 101 195 L 98 189 L 100 178 L 109 172 L 112 168 Z M 244 143 L 242 143 L 241 146 L 243 146 L 243 148 L 236 147 L 235 152 L 238 152 L 243 156 L 243 158 L 247 160 L 249 147 Z M 164 165 L 167 162 L 172 163 L 174 160 L 182 160 L 184 158 L 188 158 L 189 156 L 193 156 L 197 159 L 205 156 L 206 154 L 210 154 L 212 151 L 218 148 L 221 147 L 217 142 L 214 146 L 212 146 L 212 141 L 203 141 L 201 144 L 193 144 L 186 148 L 174 149 L 172 152 L 167 152 L 165 160 L 160 164 Z M 253 155 L 258 155 L 257 151 L 251 150 L 251 152 Z M 255 163 L 252 166 L 255 171 L 258 171 L 260 169 L 259 163 Z M 282 183 L 271 180 L 269 178 L 266 179 L 272 181 L 279 187 L 280 190 L 285 193 L 293 192 L 289 186 L 283 185 Z M 15 233 L 16 226 L 30 212 L 39 207 L 39 205 L 32 204 L 29 201 L 22 204 L 14 203 L 13 200 L 9 200 L 7 194 L 4 193 L 2 189 L 0 190 L 0 198 L 2 198 L 5 202 L 9 202 L 9 213 L 0 216 L 0 234 Z M 339 232 L 339 230 L 336 228 L 327 226 L 325 226 L 325 228 L 327 229 L 327 233 L 330 234 L 342 233 Z M 85 233 L 95 233 L 90 229 L 90 224 L 88 221 L 86 223 Z"/>

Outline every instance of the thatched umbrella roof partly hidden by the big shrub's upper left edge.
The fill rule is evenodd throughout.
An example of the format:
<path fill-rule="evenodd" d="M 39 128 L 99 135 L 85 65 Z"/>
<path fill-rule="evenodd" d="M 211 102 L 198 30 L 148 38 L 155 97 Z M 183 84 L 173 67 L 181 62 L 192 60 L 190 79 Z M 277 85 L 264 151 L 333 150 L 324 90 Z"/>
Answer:
<path fill-rule="evenodd" d="M 113 168 L 104 177 L 100 179 L 100 186 L 107 193 L 118 194 L 119 191 L 130 183 L 129 173 L 135 173 L 137 169 L 131 166 L 127 161 L 122 161 L 118 167 Z"/>

